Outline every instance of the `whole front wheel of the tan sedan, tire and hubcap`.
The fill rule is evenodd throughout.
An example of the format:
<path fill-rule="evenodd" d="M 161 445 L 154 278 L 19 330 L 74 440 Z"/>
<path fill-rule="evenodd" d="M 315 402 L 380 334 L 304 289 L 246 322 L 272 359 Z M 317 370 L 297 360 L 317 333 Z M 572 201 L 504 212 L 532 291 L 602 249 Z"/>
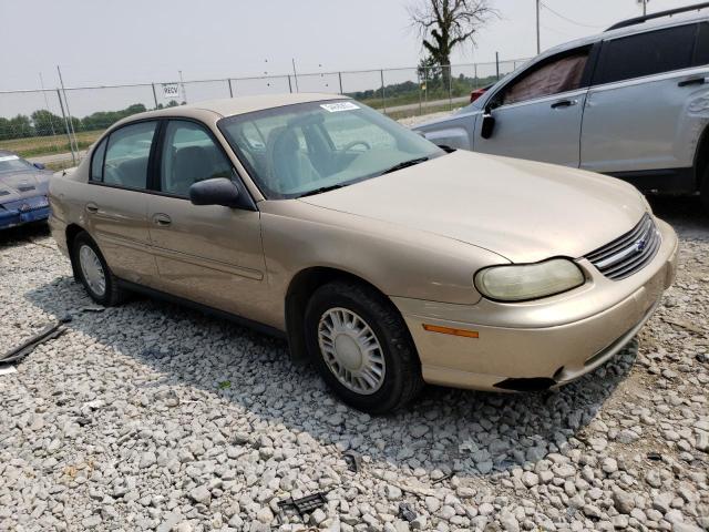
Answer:
<path fill-rule="evenodd" d="M 421 365 L 403 319 L 363 284 L 318 288 L 306 309 L 308 350 L 329 387 L 370 413 L 403 407 L 423 387 Z"/>

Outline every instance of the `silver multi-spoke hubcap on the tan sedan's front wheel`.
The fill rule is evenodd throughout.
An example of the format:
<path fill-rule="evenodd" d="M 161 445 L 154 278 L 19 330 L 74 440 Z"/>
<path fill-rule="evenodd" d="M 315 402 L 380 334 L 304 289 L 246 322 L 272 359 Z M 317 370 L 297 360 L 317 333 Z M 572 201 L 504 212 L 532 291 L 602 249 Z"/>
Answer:
<path fill-rule="evenodd" d="M 384 382 L 384 354 L 374 331 L 347 308 L 331 308 L 320 318 L 318 342 L 325 364 L 346 388 L 369 396 Z"/>

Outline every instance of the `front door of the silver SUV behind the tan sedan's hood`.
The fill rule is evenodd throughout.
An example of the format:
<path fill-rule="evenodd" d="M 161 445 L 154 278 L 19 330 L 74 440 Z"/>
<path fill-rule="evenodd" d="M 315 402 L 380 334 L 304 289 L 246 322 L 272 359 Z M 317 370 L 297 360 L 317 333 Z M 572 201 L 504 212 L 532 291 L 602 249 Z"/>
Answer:
<path fill-rule="evenodd" d="M 473 150 L 578 166 L 590 50 L 546 58 L 492 94 L 485 102 L 495 119 L 492 136 L 483 137 L 479 116 Z"/>

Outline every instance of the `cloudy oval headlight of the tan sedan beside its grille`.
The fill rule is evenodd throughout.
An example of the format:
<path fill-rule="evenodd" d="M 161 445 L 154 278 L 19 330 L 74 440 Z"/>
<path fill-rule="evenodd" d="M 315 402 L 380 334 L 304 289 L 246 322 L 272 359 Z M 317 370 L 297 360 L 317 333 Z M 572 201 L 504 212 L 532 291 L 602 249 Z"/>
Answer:
<path fill-rule="evenodd" d="M 491 266 L 475 274 L 475 287 L 485 297 L 523 301 L 553 296 L 584 284 L 584 273 L 567 258 L 536 264 Z"/>

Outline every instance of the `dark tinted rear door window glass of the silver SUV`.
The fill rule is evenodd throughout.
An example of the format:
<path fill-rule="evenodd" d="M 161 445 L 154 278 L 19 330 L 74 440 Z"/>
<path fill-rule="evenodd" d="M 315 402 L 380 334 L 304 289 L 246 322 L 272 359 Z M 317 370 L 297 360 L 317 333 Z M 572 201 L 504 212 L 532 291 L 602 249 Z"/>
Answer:
<path fill-rule="evenodd" d="M 697 24 L 648 31 L 603 43 L 594 84 L 691 66 Z"/>

